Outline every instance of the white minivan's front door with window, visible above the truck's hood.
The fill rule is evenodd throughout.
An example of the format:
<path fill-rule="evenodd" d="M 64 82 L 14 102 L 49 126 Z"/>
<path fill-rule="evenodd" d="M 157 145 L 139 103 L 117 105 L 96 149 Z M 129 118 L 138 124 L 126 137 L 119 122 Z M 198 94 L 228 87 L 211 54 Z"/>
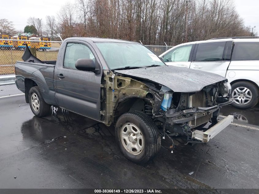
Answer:
<path fill-rule="evenodd" d="M 195 44 L 187 44 L 173 48 L 162 56 L 163 60 L 166 65 L 190 68 L 194 46 Z"/>

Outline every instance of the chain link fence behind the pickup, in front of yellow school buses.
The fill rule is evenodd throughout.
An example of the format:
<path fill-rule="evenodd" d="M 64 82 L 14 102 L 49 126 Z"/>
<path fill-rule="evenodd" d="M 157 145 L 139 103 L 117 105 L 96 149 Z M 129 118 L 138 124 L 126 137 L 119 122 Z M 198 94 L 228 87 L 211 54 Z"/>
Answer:
<path fill-rule="evenodd" d="M 14 74 L 14 64 L 24 54 L 25 44 L 36 48 L 36 57 L 42 61 L 56 60 L 61 41 L 9 40 L 0 39 L 0 75 Z M 145 45 L 157 55 L 173 46 Z"/>

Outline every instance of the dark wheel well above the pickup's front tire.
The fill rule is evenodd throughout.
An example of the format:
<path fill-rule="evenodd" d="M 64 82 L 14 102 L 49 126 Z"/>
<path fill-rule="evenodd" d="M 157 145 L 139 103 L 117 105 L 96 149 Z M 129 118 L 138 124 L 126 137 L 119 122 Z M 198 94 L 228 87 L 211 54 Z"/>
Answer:
<path fill-rule="evenodd" d="M 145 102 L 142 98 L 131 97 L 118 103 L 114 111 L 114 122 L 125 112 L 129 111 L 143 111 Z"/>

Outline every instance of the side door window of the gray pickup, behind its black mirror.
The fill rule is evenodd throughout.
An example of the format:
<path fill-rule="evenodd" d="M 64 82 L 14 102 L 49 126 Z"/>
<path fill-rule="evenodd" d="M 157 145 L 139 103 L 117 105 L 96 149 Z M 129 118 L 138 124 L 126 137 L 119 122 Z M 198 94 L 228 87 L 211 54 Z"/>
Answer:
<path fill-rule="evenodd" d="M 65 52 L 64 67 L 76 69 L 75 62 L 77 59 L 95 60 L 92 51 L 85 44 L 68 43 Z"/>

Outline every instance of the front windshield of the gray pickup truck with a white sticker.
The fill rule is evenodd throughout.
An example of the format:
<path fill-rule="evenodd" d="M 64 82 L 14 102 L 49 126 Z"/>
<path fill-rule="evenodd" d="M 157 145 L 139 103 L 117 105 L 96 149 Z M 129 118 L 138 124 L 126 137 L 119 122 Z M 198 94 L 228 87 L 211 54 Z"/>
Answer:
<path fill-rule="evenodd" d="M 96 45 L 110 69 L 165 65 L 158 56 L 141 44 L 100 42 Z"/>

